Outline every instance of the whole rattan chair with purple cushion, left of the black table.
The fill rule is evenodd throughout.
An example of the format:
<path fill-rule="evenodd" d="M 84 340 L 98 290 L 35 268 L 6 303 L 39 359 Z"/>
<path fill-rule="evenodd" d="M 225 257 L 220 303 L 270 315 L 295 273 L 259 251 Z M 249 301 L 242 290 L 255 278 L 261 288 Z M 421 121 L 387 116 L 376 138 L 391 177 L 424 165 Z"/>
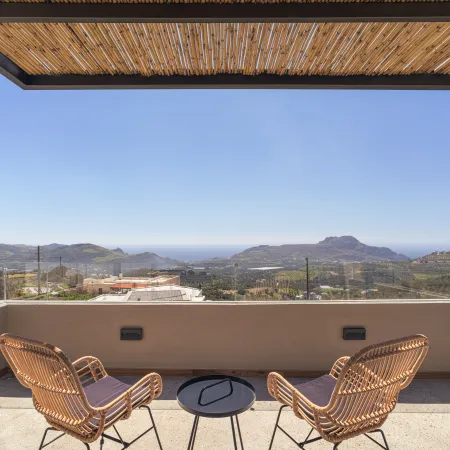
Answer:
<path fill-rule="evenodd" d="M 64 434 L 82 441 L 87 448 L 98 438 L 101 438 L 101 447 L 107 438 L 127 448 L 151 430 L 155 431 L 162 450 L 152 412 L 147 406 L 162 392 L 162 380 L 157 373 L 150 373 L 129 386 L 109 376 L 102 363 L 92 356 L 71 363 L 53 345 L 10 334 L 0 336 L 0 348 L 20 383 L 31 389 L 36 410 L 50 424 L 39 450 Z M 147 409 L 152 426 L 132 442 L 125 442 L 115 423 L 128 419 L 139 407 Z M 110 427 L 114 428 L 117 438 L 105 434 Z M 44 444 L 50 430 L 63 434 Z"/>

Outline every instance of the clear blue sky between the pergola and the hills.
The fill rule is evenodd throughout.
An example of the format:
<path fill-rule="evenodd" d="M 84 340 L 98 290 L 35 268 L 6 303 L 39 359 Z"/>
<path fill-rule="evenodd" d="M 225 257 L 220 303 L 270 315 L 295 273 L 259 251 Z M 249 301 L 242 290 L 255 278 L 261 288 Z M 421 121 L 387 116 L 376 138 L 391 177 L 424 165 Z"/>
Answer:
<path fill-rule="evenodd" d="M 0 242 L 450 247 L 450 92 L 25 92 Z"/>

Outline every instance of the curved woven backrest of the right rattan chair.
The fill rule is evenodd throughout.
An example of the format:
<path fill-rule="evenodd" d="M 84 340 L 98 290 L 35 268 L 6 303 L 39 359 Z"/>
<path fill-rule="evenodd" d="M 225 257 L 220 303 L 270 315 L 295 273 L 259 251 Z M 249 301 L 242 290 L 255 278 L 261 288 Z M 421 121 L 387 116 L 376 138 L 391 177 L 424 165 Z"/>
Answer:
<path fill-rule="evenodd" d="M 428 351 L 415 335 L 370 345 L 344 365 L 330 399 L 328 418 L 344 434 L 376 428 L 394 409 L 401 389 L 411 383 Z"/>

